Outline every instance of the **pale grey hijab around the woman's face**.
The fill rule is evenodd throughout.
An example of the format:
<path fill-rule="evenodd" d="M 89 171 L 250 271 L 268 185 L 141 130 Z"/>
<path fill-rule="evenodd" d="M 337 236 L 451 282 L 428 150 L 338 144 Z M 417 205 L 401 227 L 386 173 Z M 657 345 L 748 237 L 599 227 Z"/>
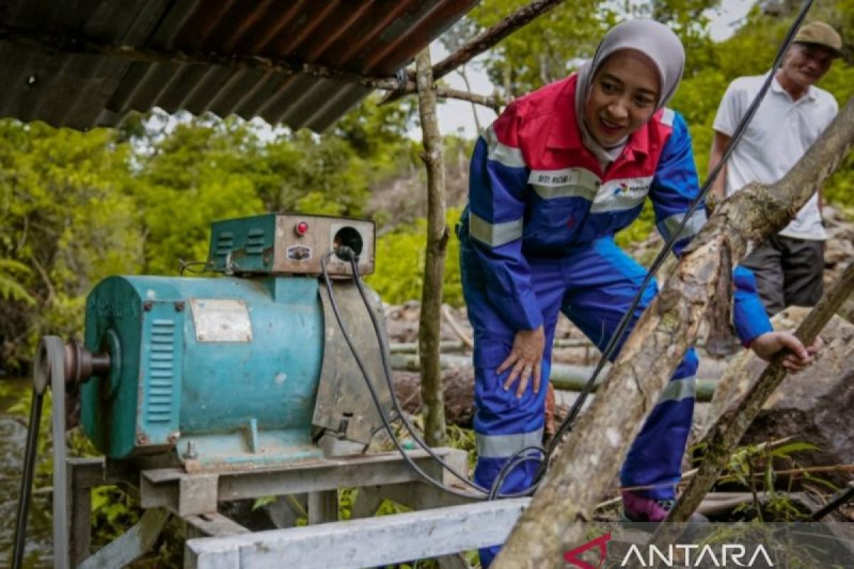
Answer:
<path fill-rule="evenodd" d="M 603 168 L 610 162 L 617 160 L 628 141 L 628 137 L 617 142 L 615 146 L 603 148 L 590 133 L 588 125 L 584 123 L 584 105 L 590 95 L 590 85 L 593 83 L 594 74 L 610 55 L 620 49 L 640 51 L 649 57 L 658 69 L 661 94 L 658 96 L 656 111 L 664 107 L 676 93 L 676 87 L 679 86 L 682 71 L 685 69 L 685 49 L 682 47 L 681 41 L 669 27 L 655 20 L 625 21 L 612 27 L 605 34 L 605 38 L 602 38 L 599 47 L 596 48 L 593 59 L 584 63 L 578 70 L 578 82 L 576 84 L 576 117 L 578 117 L 578 127 L 582 131 L 582 141 L 584 146 L 594 153 Z"/>

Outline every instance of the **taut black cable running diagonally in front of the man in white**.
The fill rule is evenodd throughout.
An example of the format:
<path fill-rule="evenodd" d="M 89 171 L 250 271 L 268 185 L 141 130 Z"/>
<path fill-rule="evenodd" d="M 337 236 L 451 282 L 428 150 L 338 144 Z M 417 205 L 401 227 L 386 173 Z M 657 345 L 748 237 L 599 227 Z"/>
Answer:
<path fill-rule="evenodd" d="M 543 473 L 548 466 L 549 460 L 551 460 L 551 456 L 555 448 L 560 442 L 560 439 L 563 438 L 564 434 L 568 433 L 572 427 L 572 424 L 576 421 L 577 416 L 581 412 L 582 405 L 587 400 L 590 392 L 593 391 L 593 386 L 596 379 L 599 377 L 602 369 L 605 368 L 605 363 L 611 359 L 611 356 L 615 356 L 615 351 L 617 351 L 617 345 L 620 345 L 621 340 L 623 339 L 623 334 L 625 334 L 626 329 L 629 328 L 629 322 L 632 320 L 632 316 L 635 313 L 638 305 L 640 305 L 640 299 L 643 296 L 646 287 L 649 286 L 649 283 L 652 282 L 652 278 L 656 275 L 658 270 L 661 268 L 661 265 L 664 264 L 664 259 L 667 258 L 667 255 L 673 250 L 673 247 L 676 245 L 676 241 L 679 240 L 679 235 L 681 234 L 682 229 L 685 228 L 688 220 L 692 217 L 693 213 L 697 211 L 700 204 L 705 200 L 705 196 L 709 193 L 711 186 L 715 183 L 718 175 L 720 174 L 724 165 L 726 165 L 727 160 L 733 154 L 736 145 L 741 140 L 741 137 L 744 136 L 744 133 L 747 129 L 747 125 L 750 124 L 750 121 L 753 119 L 753 115 L 756 114 L 759 104 L 762 102 L 765 93 L 768 92 L 769 87 L 771 85 L 771 81 L 774 79 L 775 72 L 778 67 L 780 67 L 780 63 L 782 61 L 783 55 L 786 54 L 787 49 L 792 44 L 792 41 L 795 37 L 795 33 L 798 31 L 798 28 L 803 23 L 804 18 L 809 12 L 810 7 L 812 6 L 813 0 L 805 0 L 802 4 L 801 9 L 798 13 L 798 16 L 792 23 L 792 26 L 789 27 L 789 30 L 786 34 L 786 38 L 783 41 L 780 49 L 778 49 L 777 54 L 774 59 L 774 64 L 771 67 L 771 71 L 768 74 L 768 77 L 765 78 L 765 81 L 762 85 L 762 88 L 757 93 L 757 96 L 753 98 L 753 101 L 750 104 L 750 107 L 747 108 L 747 112 L 744 117 L 740 120 L 739 125 L 736 127 L 733 136 L 730 139 L 729 145 L 726 151 L 723 153 L 721 160 L 717 163 L 717 165 L 712 169 L 709 173 L 709 177 L 706 179 L 702 188 L 699 191 L 697 197 L 691 202 L 691 205 L 688 206 L 688 210 L 685 213 L 685 216 L 682 218 L 679 227 L 676 228 L 664 243 L 664 247 L 662 247 L 661 251 L 659 251 L 655 260 L 652 261 L 649 270 L 646 272 L 646 276 L 644 276 L 643 282 L 640 283 L 640 287 L 638 288 L 638 292 L 635 294 L 635 298 L 632 299 L 631 305 L 629 305 L 629 310 L 623 314 L 623 318 L 617 324 L 617 330 L 615 330 L 614 334 L 611 335 L 611 340 L 608 341 L 608 344 L 605 345 L 605 350 L 602 351 L 602 355 L 599 359 L 599 362 L 596 363 L 596 367 L 594 368 L 593 374 L 590 376 L 590 379 L 584 385 L 582 392 L 579 393 L 575 402 L 570 409 L 570 413 L 566 416 L 564 421 L 561 422 L 560 427 L 557 432 L 554 434 L 552 440 L 549 442 L 546 450 L 546 456 L 541 463 L 540 470 L 535 476 L 535 481 L 541 479 Z M 521 452 L 521 451 L 520 451 Z M 535 488 L 536 484 L 532 486 Z"/>

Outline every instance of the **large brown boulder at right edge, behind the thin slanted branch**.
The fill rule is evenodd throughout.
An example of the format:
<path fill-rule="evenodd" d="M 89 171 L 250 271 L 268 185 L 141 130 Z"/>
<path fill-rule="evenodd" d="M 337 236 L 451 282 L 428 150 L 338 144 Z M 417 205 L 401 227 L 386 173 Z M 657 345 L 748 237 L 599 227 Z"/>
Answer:
<path fill-rule="evenodd" d="M 793 329 L 810 311 L 790 307 L 774 317 L 775 329 Z M 741 444 L 792 437 L 816 444 L 821 450 L 796 456 L 798 465 L 831 466 L 854 463 L 854 325 L 834 316 L 820 334 L 824 347 L 816 363 L 789 374 L 763 406 Z M 758 378 L 766 363 L 744 351 L 722 375 L 702 432 L 734 404 Z M 819 474 L 838 485 L 851 473 Z"/>

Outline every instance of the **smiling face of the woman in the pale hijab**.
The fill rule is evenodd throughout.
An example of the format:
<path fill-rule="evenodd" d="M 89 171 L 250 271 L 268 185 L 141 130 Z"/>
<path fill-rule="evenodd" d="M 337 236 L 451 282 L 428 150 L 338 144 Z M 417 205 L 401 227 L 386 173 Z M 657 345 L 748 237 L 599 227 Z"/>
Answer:
<path fill-rule="evenodd" d="M 590 133 L 602 146 L 614 146 L 637 131 L 655 112 L 661 92 L 658 70 L 646 55 L 624 49 L 596 70 L 584 105 Z"/>

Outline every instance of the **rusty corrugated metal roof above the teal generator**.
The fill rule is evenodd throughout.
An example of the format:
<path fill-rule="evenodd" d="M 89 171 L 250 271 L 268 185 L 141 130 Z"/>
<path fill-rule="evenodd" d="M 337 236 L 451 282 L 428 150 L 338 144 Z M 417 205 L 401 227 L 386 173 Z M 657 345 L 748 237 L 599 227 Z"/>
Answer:
<path fill-rule="evenodd" d="M 8 0 L 0 116 L 87 129 L 161 107 L 322 131 L 368 89 L 262 69 L 127 61 L 17 41 L 9 29 L 137 48 L 264 55 L 393 75 L 477 0 Z M 5 28 L 5 30 L 3 30 Z M 4 33 L 5 32 L 5 33 Z"/>

